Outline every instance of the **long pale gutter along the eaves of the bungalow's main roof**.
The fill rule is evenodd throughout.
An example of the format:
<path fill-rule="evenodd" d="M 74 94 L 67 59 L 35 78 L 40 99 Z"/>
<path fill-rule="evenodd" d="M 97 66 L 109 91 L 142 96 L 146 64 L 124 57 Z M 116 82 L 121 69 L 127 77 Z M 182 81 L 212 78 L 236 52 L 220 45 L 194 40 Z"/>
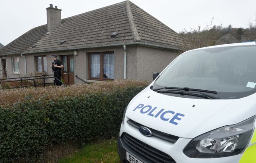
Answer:
<path fill-rule="evenodd" d="M 149 43 L 141 43 L 141 42 L 136 42 L 136 43 L 126 43 L 126 44 L 110 44 L 110 45 L 103 45 L 103 46 L 88 46 L 88 47 L 81 47 L 81 48 L 67 48 L 67 49 L 62 49 L 62 50 L 44 50 L 40 52 L 23 52 L 21 54 L 33 54 L 33 53 L 46 53 L 46 52 L 56 52 L 56 51 L 64 51 L 64 50 L 80 50 L 80 49 L 91 49 L 91 48 L 104 48 L 104 47 L 111 47 L 111 46 L 131 46 L 131 45 L 137 45 L 137 46 L 147 46 L 147 47 L 155 47 L 159 49 L 168 49 L 168 50 L 175 50 L 175 51 L 180 51 L 179 48 L 176 47 L 170 47 L 170 46 L 160 46 L 160 45 L 154 45 L 154 44 L 149 44 Z"/>

